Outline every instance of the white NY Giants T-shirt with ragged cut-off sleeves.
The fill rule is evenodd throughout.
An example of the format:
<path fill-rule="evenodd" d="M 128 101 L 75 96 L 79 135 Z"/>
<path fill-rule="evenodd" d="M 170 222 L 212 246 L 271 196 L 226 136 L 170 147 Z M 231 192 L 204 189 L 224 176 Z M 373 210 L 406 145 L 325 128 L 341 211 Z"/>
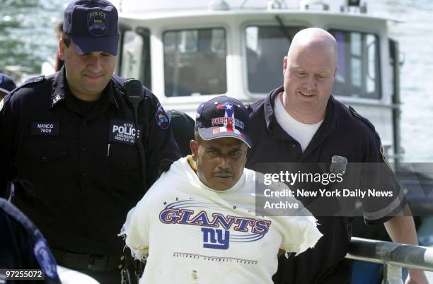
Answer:
<path fill-rule="evenodd" d="M 272 283 L 280 248 L 301 253 L 322 236 L 311 215 L 256 216 L 252 170 L 213 191 L 188 158 L 161 175 L 122 228 L 136 259 L 149 249 L 141 284 Z"/>

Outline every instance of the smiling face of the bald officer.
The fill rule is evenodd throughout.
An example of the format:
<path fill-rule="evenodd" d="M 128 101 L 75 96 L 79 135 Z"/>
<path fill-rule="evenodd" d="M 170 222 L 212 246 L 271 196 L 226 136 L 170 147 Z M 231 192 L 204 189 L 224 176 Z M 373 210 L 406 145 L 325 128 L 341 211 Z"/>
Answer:
<path fill-rule="evenodd" d="M 323 119 L 337 66 L 330 49 L 299 48 L 284 58 L 284 100 L 289 113 L 305 123 Z"/>

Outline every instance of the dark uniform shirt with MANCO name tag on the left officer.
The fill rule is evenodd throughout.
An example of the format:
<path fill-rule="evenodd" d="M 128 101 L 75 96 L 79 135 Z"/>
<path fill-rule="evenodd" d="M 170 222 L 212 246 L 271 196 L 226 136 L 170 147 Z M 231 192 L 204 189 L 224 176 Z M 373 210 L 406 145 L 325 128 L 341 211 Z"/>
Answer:
<path fill-rule="evenodd" d="M 144 187 L 134 144 L 137 127 L 120 81 L 112 76 L 103 96 L 87 110 L 71 95 L 64 69 L 30 79 L 4 101 L 0 189 L 18 180 L 16 206 L 52 248 L 78 254 L 122 252 L 117 233 Z M 144 95 L 138 129 L 146 137 L 150 186 L 161 160 L 178 160 L 180 150 L 158 99 L 146 88 Z"/>

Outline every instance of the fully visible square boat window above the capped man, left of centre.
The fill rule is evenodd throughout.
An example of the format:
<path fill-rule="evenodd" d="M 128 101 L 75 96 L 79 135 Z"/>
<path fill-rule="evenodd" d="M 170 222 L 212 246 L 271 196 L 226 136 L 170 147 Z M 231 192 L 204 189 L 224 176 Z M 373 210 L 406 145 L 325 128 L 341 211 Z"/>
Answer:
<path fill-rule="evenodd" d="M 226 93 L 226 33 L 222 28 L 163 33 L 166 96 Z"/>

